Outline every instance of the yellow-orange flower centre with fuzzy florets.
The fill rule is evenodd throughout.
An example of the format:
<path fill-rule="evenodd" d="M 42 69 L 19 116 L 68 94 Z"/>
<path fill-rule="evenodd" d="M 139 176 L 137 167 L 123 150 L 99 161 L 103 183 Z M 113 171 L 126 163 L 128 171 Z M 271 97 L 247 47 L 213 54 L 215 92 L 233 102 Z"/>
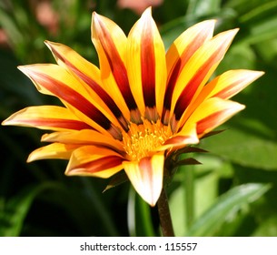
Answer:
<path fill-rule="evenodd" d="M 147 119 L 143 124 L 129 125 L 128 133 L 124 133 L 124 149 L 130 160 L 139 160 L 143 157 L 152 156 L 163 142 L 172 136 L 168 126 L 164 126 L 160 120 L 152 123 Z"/>

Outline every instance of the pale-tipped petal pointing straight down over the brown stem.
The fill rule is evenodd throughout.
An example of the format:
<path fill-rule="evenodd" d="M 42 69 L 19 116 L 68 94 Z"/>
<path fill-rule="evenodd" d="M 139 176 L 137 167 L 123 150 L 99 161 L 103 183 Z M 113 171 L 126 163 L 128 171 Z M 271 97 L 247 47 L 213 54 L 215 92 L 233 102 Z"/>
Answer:
<path fill-rule="evenodd" d="M 142 158 L 139 162 L 124 161 L 124 170 L 137 193 L 151 206 L 160 197 L 163 188 L 163 153 Z"/>

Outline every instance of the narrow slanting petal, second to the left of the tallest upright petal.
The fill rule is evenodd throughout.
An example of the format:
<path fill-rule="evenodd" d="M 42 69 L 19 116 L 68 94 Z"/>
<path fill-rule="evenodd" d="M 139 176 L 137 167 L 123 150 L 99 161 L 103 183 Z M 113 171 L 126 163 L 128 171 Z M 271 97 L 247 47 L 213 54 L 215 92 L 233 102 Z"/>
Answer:
<path fill-rule="evenodd" d="M 91 87 L 113 112 L 114 117 L 120 120 L 124 128 L 127 128 L 121 110 L 116 106 L 113 98 L 104 90 L 99 69 L 68 46 L 49 41 L 45 41 L 45 44 L 52 51 L 57 63 L 60 66 L 67 67 L 75 76 L 81 78 L 85 84 Z"/>

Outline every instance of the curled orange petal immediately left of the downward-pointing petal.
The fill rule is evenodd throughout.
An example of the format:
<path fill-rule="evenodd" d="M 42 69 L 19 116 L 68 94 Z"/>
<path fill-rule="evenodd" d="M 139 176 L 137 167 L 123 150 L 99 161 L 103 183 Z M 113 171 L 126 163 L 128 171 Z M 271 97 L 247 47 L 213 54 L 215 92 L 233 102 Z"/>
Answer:
<path fill-rule="evenodd" d="M 65 174 L 109 178 L 123 169 L 123 160 L 112 149 L 84 146 L 74 150 Z"/>

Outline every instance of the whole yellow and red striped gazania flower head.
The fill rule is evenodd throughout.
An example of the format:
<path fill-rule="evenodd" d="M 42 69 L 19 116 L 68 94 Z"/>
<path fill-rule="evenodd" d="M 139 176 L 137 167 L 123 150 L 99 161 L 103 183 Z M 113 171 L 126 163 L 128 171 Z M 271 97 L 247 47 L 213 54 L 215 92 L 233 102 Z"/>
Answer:
<path fill-rule="evenodd" d="M 208 20 L 183 32 L 165 52 L 151 9 L 128 36 L 93 14 L 92 40 L 100 68 L 73 49 L 52 42 L 57 65 L 20 66 L 35 87 L 64 107 L 27 107 L 4 125 L 53 130 L 28 158 L 64 158 L 65 174 L 110 178 L 124 169 L 134 189 L 155 205 L 164 160 L 199 142 L 244 106 L 230 97 L 262 76 L 231 70 L 210 78 L 238 29 L 213 36 Z"/>

